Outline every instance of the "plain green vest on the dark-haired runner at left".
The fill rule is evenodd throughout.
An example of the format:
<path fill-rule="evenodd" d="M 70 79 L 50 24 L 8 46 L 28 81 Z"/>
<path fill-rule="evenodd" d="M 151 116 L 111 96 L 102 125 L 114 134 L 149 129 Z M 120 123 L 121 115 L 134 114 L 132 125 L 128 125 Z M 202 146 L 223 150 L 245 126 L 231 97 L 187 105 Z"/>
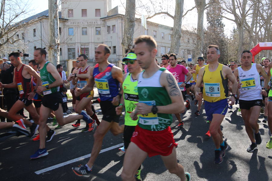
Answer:
<path fill-rule="evenodd" d="M 52 84 L 54 81 L 56 81 L 56 79 L 51 75 L 51 73 L 49 73 L 47 71 L 46 66 L 48 65 L 48 63 L 50 63 L 50 62 L 47 61 L 44 64 L 44 67 L 42 69 L 40 69 L 40 79 L 42 81 L 43 86 L 46 86 L 48 84 Z M 54 93 L 54 92 L 57 92 L 57 87 L 52 87 L 50 89 L 43 91 L 44 95 Z"/>

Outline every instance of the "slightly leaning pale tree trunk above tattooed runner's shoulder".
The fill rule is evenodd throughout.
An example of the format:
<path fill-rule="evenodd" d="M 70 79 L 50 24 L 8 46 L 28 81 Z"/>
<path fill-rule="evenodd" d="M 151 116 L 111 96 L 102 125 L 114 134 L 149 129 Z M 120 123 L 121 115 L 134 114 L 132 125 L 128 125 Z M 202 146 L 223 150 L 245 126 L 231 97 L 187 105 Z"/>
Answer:
<path fill-rule="evenodd" d="M 170 52 L 178 55 L 180 49 L 180 38 L 181 38 L 181 23 L 183 15 L 183 2 L 184 0 L 176 0 L 175 16 L 173 33 L 171 36 L 171 47 Z"/>

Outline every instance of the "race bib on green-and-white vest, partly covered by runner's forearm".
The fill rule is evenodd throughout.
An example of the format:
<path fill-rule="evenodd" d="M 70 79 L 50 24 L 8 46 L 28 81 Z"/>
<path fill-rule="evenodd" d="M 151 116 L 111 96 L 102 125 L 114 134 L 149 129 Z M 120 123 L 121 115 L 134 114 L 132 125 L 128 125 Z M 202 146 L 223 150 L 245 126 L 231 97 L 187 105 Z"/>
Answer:
<path fill-rule="evenodd" d="M 145 103 L 149 106 L 155 106 L 156 102 L 152 101 L 139 101 L 139 103 Z M 148 114 L 139 114 L 139 123 L 143 125 L 158 125 L 159 119 L 158 114 L 148 113 Z"/>

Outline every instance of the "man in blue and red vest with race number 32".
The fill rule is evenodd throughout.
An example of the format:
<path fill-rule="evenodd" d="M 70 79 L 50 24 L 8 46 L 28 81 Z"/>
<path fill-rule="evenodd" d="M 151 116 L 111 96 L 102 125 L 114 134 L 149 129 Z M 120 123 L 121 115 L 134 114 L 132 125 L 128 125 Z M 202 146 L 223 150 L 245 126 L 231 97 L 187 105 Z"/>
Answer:
<path fill-rule="evenodd" d="M 100 44 L 96 48 L 95 59 L 97 64 L 90 69 L 88 84 L 82 89 L 77 88 L 75 90 L 76 95 L 89 92 L 96 83 L 103 114 L 99 129 L 96 129 L 94 134 L 92 154 L 88 163 L 79 167 L 72 167 L 73 172 L 77 176 L 90 176 L 92 166 L 101 150 L 103 138 L 108 130 L 110 130 L 113 135 L 118 135 L 124 131 L 124 125 L 119 126 L 120 116 L 116 115 L 115 111 L 120 99 L 118 90 L 119 82 L 123 83 L 123 73 L 120 68 L 108 62 L 110 54 L 111 50 L 107 45 Z"/>

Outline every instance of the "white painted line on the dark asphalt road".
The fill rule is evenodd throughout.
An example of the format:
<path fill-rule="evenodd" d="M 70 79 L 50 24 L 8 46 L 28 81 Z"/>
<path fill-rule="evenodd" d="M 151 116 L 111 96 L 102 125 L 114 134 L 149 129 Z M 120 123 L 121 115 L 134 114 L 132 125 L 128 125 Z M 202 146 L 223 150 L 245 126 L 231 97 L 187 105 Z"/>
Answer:
<path fill-rule="evenodd" d="M 124 145 L 124 143 L 120 143 L 120 144 L 116 144 L 116 145 L 114 145 L 114 146 L 111 146 L 111 147 L 109 147 L 109 148 L 105 148 L 105 149 L 101 150 L 101 151 L 99 152 L 99 154 L 100 154 L 100 153 L 104 153 L 104 152 L 109 151 L 109 150 L 112 150 L 112 149 L 115 149 L 115 148 L 118 148 L 118 147 L 123 146 L 123 145 Z M 75 159 L 72 159 L 72 160 L 69 160 L 69 161 L 66 161 L 66 162 L 57 164 L 57 165 L 53 165 L 53 166 L 51 166 L 51 167 L 44 168 L 44 169 L 42 169 L 42 170 L 38 170 L 38 171 L 36 171 L 35 173 L 36 173 L 37 175 L 39 175 L 39 174 L 41 174 L 41 173 L 48 172 L 48 171 L 50 171 L 50 170 L 54 170 L 54 169 L 59 168 L 59 167 L 62 167 L 62 166 L 64 166 L 64 165 L 72 164 L 72 163 L 74 163 L 74 162 L 83 160 L 83 159 L 85 159 L 85 158 L 89 158 L 90 156 L 91 156 L 91 154 L 87 154 L 87 155 L 84 155 L 84 156 L 82 156 L 82 157 L 78 157 L 78 158 L 75 158 Z"/>

